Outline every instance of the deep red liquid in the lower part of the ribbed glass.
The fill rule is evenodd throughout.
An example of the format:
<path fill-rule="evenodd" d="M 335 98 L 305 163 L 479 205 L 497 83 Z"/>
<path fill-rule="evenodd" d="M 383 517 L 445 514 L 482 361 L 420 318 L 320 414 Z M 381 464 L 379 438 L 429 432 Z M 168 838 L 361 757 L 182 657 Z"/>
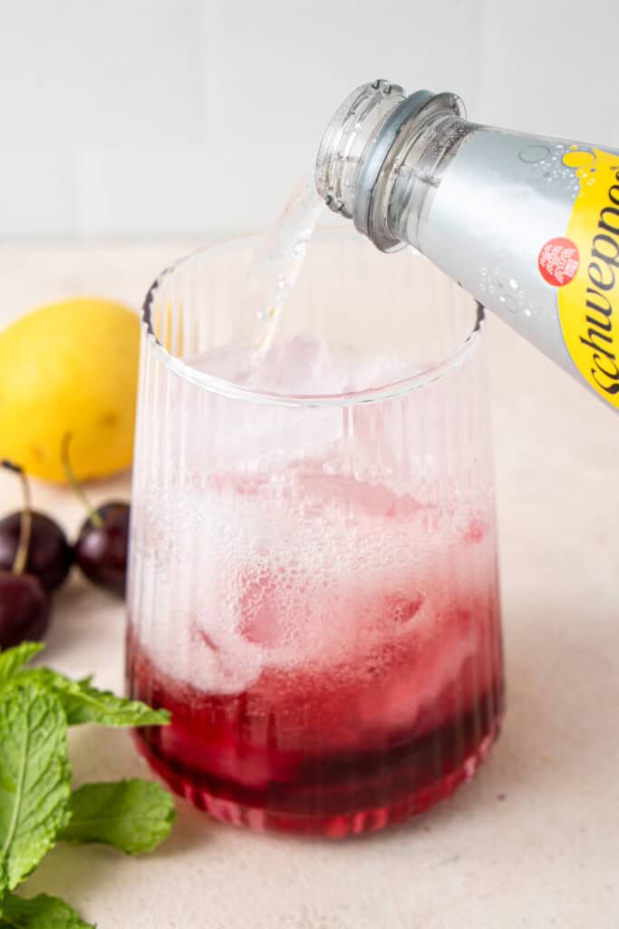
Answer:
<path fill-rule="evenodd" d="M 381 525 L 402 521 L 394 499 L 374 494 Z M 479 576 L 477 546 L 494 546 L 489 532 L 472 521 L 458 537 L 456 560 L 466 567 L 473 558 L 471 578 Z M 449 796 L 471 779 L 496 738 L 503 678 L 494 575 L 488 590 L 487 579 L 469 582 L 460 571 L 445 593 L 445 557 L 453 560 L 454 551 L 437 561 L 435 587 L 431 569 L 419 589 L 412 565 L 371 593 L 344 583 L 343 608 L 354 619 L 346 648 L 337 643 L 342 602 L 326 586 L 322 604 L 316 589 L 304 604 L 300 584 L 297 615 L 300 622 L 322 618 L 326 650 L 313 651 L 308 638 L 304 659 L 302 641 L 301 660 L 266 662 L 240 692 L 209 692 L 163 670 L 130 631 L 132 697 L 173 714 L 171 726 L 135 733 L 141 752 L 194 805 L 255 829 L 373 831 Z M 279 584 L 264 572 L 239 579 L 239 634 L 265 654 L 287 628 Z M 290 606 L 290 583 L 286 597 Z M 202 649 L 230 664 L 201 627 L 193 636 L 198 659 Z"/>

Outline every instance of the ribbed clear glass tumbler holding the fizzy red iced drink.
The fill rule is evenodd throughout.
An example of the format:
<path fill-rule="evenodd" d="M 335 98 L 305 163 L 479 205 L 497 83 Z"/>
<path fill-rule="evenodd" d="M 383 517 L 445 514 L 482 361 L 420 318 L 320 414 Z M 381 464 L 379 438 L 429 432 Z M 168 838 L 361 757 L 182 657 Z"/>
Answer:
<path fill-rule="evenodd" d="M 191 255 L 144 307 L 127 674 L 172 725 L 135 738 L 216 818 L 378 830 L 471 779 L 500 725 L 484 313 L 328 231 L 241 383 L 253 249 Z"/>

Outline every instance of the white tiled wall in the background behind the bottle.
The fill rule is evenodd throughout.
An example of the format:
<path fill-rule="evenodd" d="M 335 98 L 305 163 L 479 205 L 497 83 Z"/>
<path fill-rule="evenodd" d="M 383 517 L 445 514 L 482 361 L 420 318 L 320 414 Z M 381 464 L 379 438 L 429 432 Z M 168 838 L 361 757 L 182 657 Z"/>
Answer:
<path fill-rule="evenodd" d="M 376 76 L 619 146 L 614 0 L 0 0 L 0 241 L 268 223 Z"/>

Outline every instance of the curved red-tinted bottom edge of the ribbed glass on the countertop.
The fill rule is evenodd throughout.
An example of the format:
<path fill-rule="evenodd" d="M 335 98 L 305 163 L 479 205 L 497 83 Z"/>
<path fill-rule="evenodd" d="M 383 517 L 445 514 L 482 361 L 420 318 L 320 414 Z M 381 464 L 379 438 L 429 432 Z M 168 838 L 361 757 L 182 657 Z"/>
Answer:
<path fill-rule="evenodd" d="M 469 754 L 461 765 L 450 770 L 445 777 L 434 781 L 422 791 L 412 792 L 391 805 L 359 809 L 353 813 L 330 817 L 302 817 L 290 815 L 288 812 L 277 813 L 276 810 L 239 805 L 232 800 L 214 796 L 167 765 L 161 757 L 149 750 L 148 745 L 139 736 L 135 738 L 135 743 L 151 768 L 165 780 L 174 793 L 215 819 L 255 831 L 296 832 L 341 839 L 364 832 L 377 832 L 387 826 L 396 825 L 424 813 L 441 800 L 446 800 L 461 784 L 467 783 L 474 776 L 496 741 L 500 726 L 501 717 L 496 717 L 475 752 Z"/>

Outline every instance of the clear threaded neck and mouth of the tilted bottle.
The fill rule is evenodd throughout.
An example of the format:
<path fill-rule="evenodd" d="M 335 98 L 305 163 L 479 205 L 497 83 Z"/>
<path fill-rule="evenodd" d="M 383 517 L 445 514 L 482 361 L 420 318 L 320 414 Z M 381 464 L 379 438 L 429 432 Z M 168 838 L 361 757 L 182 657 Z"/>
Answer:
<path fill-rule="evenodd" d="M 475 128 L 463 117 L 455 94 L 419 90 L 406 97 L 385 81 L 357 88 L 320 145 L 318 193 L 381 251 L 417 246 L 432 191 Z"/>

